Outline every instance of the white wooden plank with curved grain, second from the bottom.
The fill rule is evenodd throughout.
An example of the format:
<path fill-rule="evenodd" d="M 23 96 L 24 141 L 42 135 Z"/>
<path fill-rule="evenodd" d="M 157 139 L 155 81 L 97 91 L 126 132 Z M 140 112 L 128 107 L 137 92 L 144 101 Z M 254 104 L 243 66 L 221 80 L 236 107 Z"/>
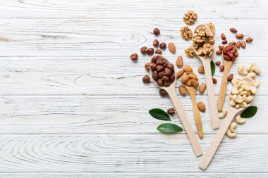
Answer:
<path fill-rule="evenodd" d="M 2 173 L 203 172 L 185 135 L 1 135 L 0 148 Z M 206 173 L 267 173 L 267 148 L 268 135 L 225 137 Z"/>

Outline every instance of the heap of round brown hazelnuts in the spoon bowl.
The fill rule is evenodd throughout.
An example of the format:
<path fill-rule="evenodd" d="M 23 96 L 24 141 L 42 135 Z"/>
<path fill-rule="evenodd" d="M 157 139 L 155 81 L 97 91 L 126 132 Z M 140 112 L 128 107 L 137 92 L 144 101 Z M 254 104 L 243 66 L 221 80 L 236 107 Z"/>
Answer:
<path fill-rule="evenodd" d="M 152 78 L 157 82 L 159 87 L 169 87 L 176 79 L 174 65 L 166 63 L 162 56 L 153 56 L 150 68 L 152 70 Z"/>

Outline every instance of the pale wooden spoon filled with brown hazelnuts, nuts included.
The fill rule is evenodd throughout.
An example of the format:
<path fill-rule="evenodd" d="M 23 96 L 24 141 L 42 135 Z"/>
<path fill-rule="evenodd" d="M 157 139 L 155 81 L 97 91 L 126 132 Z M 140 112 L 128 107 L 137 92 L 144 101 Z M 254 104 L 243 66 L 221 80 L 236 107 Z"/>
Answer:
<path fill-rule="evenodd" d="M 183 127 L 188 135 L 188 138 L 190 139 L 190 143 L 192 144 L 195 155 L 202 155 L 202 149 L 197 137 L 195 136 L 190 122 L 181 106 L 181 102 L 176 96 L 176 75 L 173 64 L 169 63 L 164 56 L 157 54 L 153 56 L 152 60 L 150 61 L 150 74 L 152 75 L 154 84 L 156 84 L 160 89 L 164 89 L 169 94 L 171 101 L 176 108 L 178 116 L 183 123 Z"/>

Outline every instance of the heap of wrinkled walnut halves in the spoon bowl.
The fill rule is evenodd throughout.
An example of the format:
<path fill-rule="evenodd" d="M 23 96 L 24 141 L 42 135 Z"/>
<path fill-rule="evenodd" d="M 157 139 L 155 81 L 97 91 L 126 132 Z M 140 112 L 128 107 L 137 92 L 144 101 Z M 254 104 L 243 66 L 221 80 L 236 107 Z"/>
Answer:
<path fill-rule="evenodd" d="M 205 25 L 195 30 L 193 34 L 193 47 L 197 50 L 197 56 L 211 57 L 214 53 L 214 42 L 213 33 Z"/>

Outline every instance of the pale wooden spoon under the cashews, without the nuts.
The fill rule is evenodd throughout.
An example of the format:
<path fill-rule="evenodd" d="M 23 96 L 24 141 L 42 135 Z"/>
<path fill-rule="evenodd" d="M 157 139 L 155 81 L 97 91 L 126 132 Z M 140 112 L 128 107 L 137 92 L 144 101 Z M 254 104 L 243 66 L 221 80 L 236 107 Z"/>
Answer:
<path fill-rule="evenodd" d="M 249 77 L 244 78 L 243 80 L 247 81 L 249 84 L 254 82 Z M 254 95 L 252 95 L 254 97 Z M 252 103 L 252 102 L 251 102 Z M 247 108 L 251 105 L 251 103 L 248 103 Z M 212 160 L 215 152 L 217 151 L 217 148 L 219 147 L 219 144 L 221 143 L 221 140 L 224 138 L 224 134 L 226 133 L 226 130 L 229 128 L 229 125 L 231 124 L 233 117 L 235 117 L 238 113 L 241 113 L 245 108 L 235 108 L 231 107 L 228 111 L 228 114 L 226 115 L 226 118 L 224 119 L 224 122 L 221 123 L 221 127 L 219 128 L 216 136 L 214 137 L 214 140 L 212 141 L 212 144 L 209 146 L 209 149 L 207 153 L 204 155 L 202 160 L 199 163 L 199 167 L 202 170 L 205 170 L 207 166 L 209 165 L 210 161 Z"/>

